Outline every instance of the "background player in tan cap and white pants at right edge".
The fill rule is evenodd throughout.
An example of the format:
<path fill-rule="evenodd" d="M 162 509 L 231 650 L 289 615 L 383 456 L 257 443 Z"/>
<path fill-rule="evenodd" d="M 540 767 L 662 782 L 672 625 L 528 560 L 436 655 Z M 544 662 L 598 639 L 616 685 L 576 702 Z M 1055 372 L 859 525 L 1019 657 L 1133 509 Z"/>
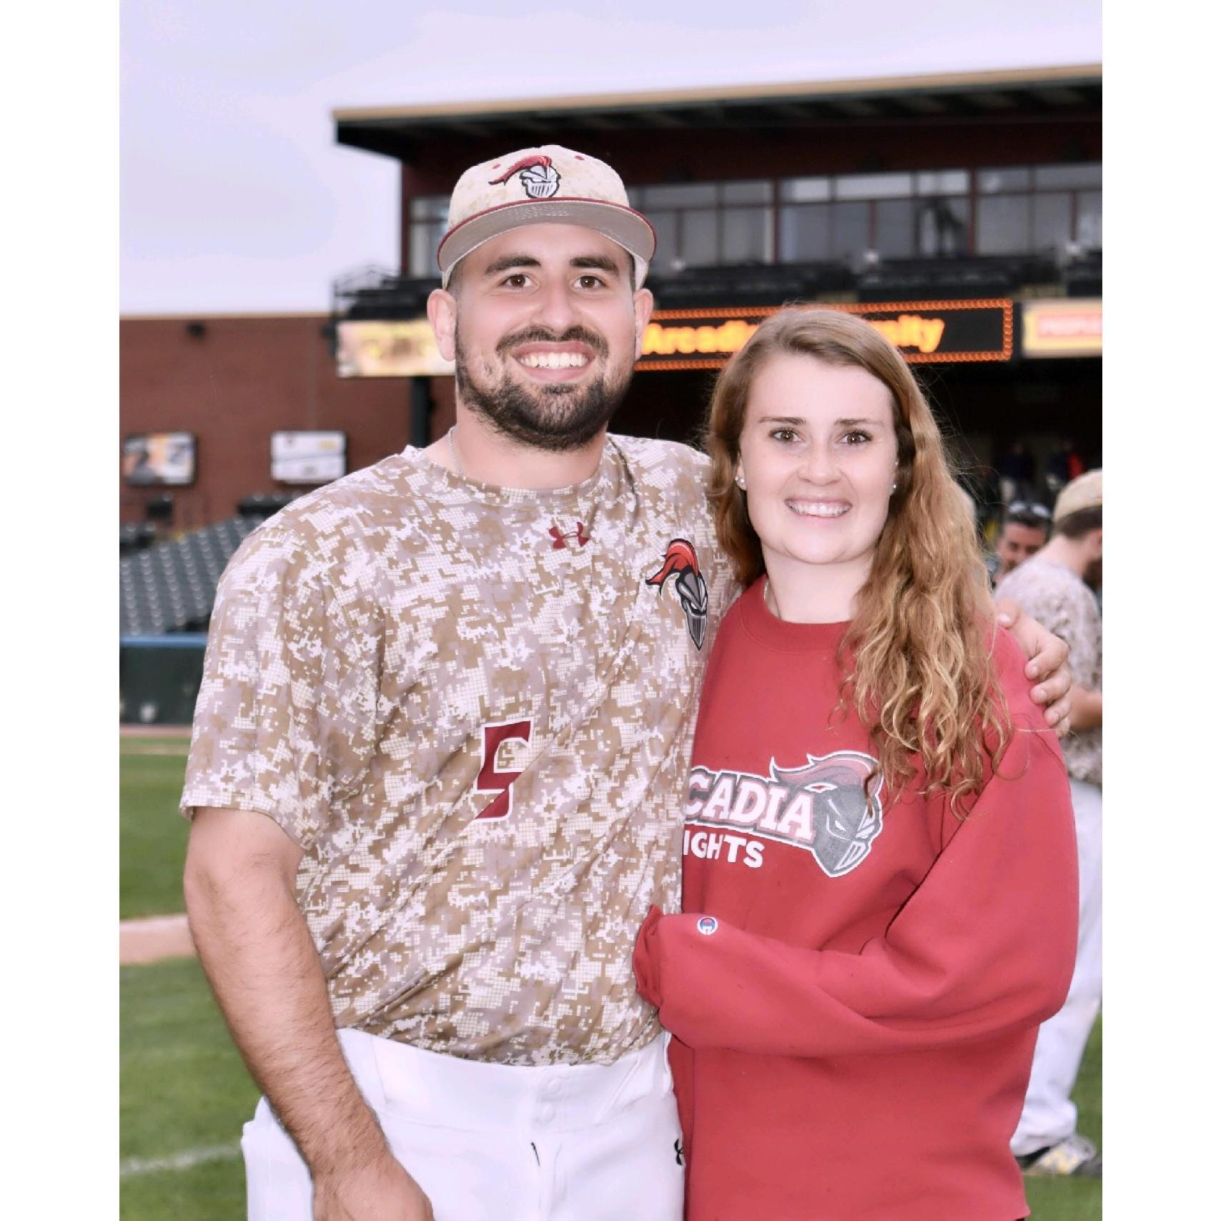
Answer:
<path fill-rule="evenodd" d="M 1070 1098 L 1103 999 L 1103 473 L 1087 471 L 1056 498 L 1050 542 L 996 589 L 1068 645 L 1070 735 L 1063 741 L 1081 869 L 1077 966 L 1063 1009 L 1039 1029 L 1012 1150 L 1031 1175 L 1096 1177 L 1103 1161 L 1077 1133 Z"/>

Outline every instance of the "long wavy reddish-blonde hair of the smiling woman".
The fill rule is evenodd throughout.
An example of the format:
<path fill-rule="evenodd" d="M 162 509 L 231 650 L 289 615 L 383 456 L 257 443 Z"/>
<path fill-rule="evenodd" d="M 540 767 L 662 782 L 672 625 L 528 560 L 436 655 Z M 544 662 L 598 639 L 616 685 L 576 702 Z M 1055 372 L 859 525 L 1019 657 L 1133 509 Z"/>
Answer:
<path fill-rule="evenodd" d="M 840 646 L 841 706 L 852 700 L 897 791 L 919 755 L 926 794 L 949 794 L 963 817 L 1012 733 L 988 632 L 988 578 L 968 497 L 955 482 L 933 413 L 907 363 L 880 332 L 842 310 L 774 314 L 730 360 L 713 393 L 705 443 L 712 455 L 717 536 L 737 580 L 763 574 L 763 549 L 734 484 L 755 376 L 778 354 L 856 366 L 890 391 L 899 441 L 897 490 L 869 575 Z M 985 745 L 987 742 L 987 745 Z"/>

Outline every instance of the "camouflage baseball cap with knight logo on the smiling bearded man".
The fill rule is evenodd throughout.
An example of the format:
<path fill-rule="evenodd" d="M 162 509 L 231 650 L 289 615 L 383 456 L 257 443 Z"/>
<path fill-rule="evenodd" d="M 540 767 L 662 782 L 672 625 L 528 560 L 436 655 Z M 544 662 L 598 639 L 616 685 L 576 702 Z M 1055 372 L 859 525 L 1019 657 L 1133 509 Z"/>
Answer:
<path fill-rule="evenodd" d="M 441 287 L 459 259 L 525 225 L 584 225 L 610 238 L 635 260 L 637 288 L 657 249 L 653 226 L 629 206 L 623 179 L 606 161 L 543 144 L 471 166 L 458 179 L 437 247 Z"/>

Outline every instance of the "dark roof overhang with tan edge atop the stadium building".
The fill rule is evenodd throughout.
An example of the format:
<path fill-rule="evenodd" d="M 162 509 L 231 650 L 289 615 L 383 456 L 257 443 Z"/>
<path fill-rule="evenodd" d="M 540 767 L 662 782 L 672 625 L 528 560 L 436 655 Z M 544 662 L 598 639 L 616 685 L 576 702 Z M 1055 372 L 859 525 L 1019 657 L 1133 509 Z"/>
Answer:
<path fill-rule="evenodd" d="M 411 164 L 437 142 L 527 147 L 581 132 L 810 128 L 1100 117 L 1101 65 L 790 84 L 509 98 L 332 111 L 339 144 Z"/>

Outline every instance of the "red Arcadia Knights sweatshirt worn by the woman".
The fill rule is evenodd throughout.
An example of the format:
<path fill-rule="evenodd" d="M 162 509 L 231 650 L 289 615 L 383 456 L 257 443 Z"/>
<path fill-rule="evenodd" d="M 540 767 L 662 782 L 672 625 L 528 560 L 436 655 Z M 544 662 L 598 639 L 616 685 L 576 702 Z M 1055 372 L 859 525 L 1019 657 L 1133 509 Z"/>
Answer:
<path fill-rule="evenodd" d="M 641 929 L 672 1043 L 689 1221 L 1015 1221 L 1009 1151 L 1076 950 L 1068 784 L 1005 632 L 1013 736 L 969 817 L 875 781 L 839 698 L 844 624 L 756 584 L 696 729 L 683 912 Z M 880 791 L 879 791 L 880 790 Z"/>

